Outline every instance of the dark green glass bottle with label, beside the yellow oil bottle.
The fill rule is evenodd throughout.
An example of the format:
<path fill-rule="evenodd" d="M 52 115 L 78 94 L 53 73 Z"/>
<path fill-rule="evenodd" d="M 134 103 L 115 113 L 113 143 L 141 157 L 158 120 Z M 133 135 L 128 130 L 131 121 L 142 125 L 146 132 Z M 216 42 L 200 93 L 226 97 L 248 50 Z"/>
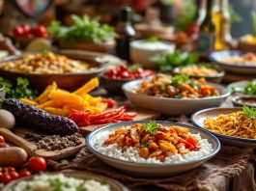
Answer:
<path fill-rule="evenodd" d="M 214 49 L 215 27 L 213 24 L 213 0 L 203 0 L 206 4 L 206 16 L 200 25 L 199 37 L 197 41 L 197 51 L 203 57 L 207 56 Z"/>

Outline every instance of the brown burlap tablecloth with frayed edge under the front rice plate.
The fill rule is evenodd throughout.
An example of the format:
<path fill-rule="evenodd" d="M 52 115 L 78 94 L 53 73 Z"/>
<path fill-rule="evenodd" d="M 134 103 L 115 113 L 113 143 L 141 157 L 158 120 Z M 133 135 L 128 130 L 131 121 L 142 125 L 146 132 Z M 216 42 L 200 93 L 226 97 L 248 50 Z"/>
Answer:
<path fill-rule="evenodd" d="M 185 116 L 166 120 L 190 123 Z M 234 146 L 222 146 L 219 153 L 201 167 L 173 177 L 128 175 L 101 162 L 87 148 L 70 161 L 49 161 L 48 164 L 54 171 L 75 169 L 112 177 L 123 182 L 131 190 L 256 190 L 254 150 Z"/>

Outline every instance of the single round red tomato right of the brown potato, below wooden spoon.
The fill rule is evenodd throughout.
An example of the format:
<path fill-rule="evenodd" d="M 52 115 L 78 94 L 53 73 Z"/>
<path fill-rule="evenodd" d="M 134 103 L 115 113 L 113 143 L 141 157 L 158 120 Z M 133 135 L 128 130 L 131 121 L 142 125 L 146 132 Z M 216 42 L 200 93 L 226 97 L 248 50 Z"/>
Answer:
<path fill-rule="evenodd" d="M 28 167 L 34 173 L 45 171 L 47 164 L 43 157 L 33 156 L 28 161 Z"/>

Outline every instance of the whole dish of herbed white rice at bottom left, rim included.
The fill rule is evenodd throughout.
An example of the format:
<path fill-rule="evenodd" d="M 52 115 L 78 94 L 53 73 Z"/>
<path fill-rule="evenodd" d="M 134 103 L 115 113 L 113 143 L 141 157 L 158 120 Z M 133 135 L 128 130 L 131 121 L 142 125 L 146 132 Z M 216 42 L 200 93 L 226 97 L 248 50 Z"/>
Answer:
<path fill-rule="evenodd" d="M 109 177 L 80 171 L 66 171 L 23 177 L 12 181 L 3 189 L 3 191 L 35 190 L 128 191 L 128 188 Z"/>

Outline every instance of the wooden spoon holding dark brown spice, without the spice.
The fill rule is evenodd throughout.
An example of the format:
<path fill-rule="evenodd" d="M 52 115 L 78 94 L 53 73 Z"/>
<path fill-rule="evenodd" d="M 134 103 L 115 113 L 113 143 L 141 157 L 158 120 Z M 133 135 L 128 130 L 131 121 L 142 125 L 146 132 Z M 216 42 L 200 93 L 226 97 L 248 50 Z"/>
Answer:
<path fill-rule="evenodd" d="M 82 137 L 82 144 L 76 147 L 70 147 L 64 150 L 37 150 L 37 146 L 35 143 L 22 138 L 24 134 L 28 132 L 32 132 L 32 130 L 27 128 L 14 127 L 14 132 L 12 132 L 6 128 L 0 127 L 0 135 L 4 136 L 8 142 L 11 142 L 15 146 L 26 150 L 26 152 L 30 156 L 38 155 L 48 160 L 60 160 L 62 158 L 67 158 L 77 153 L 85 146 L 85 139 Z M 37 134 L 39 133 L 37 132 Z"/>

